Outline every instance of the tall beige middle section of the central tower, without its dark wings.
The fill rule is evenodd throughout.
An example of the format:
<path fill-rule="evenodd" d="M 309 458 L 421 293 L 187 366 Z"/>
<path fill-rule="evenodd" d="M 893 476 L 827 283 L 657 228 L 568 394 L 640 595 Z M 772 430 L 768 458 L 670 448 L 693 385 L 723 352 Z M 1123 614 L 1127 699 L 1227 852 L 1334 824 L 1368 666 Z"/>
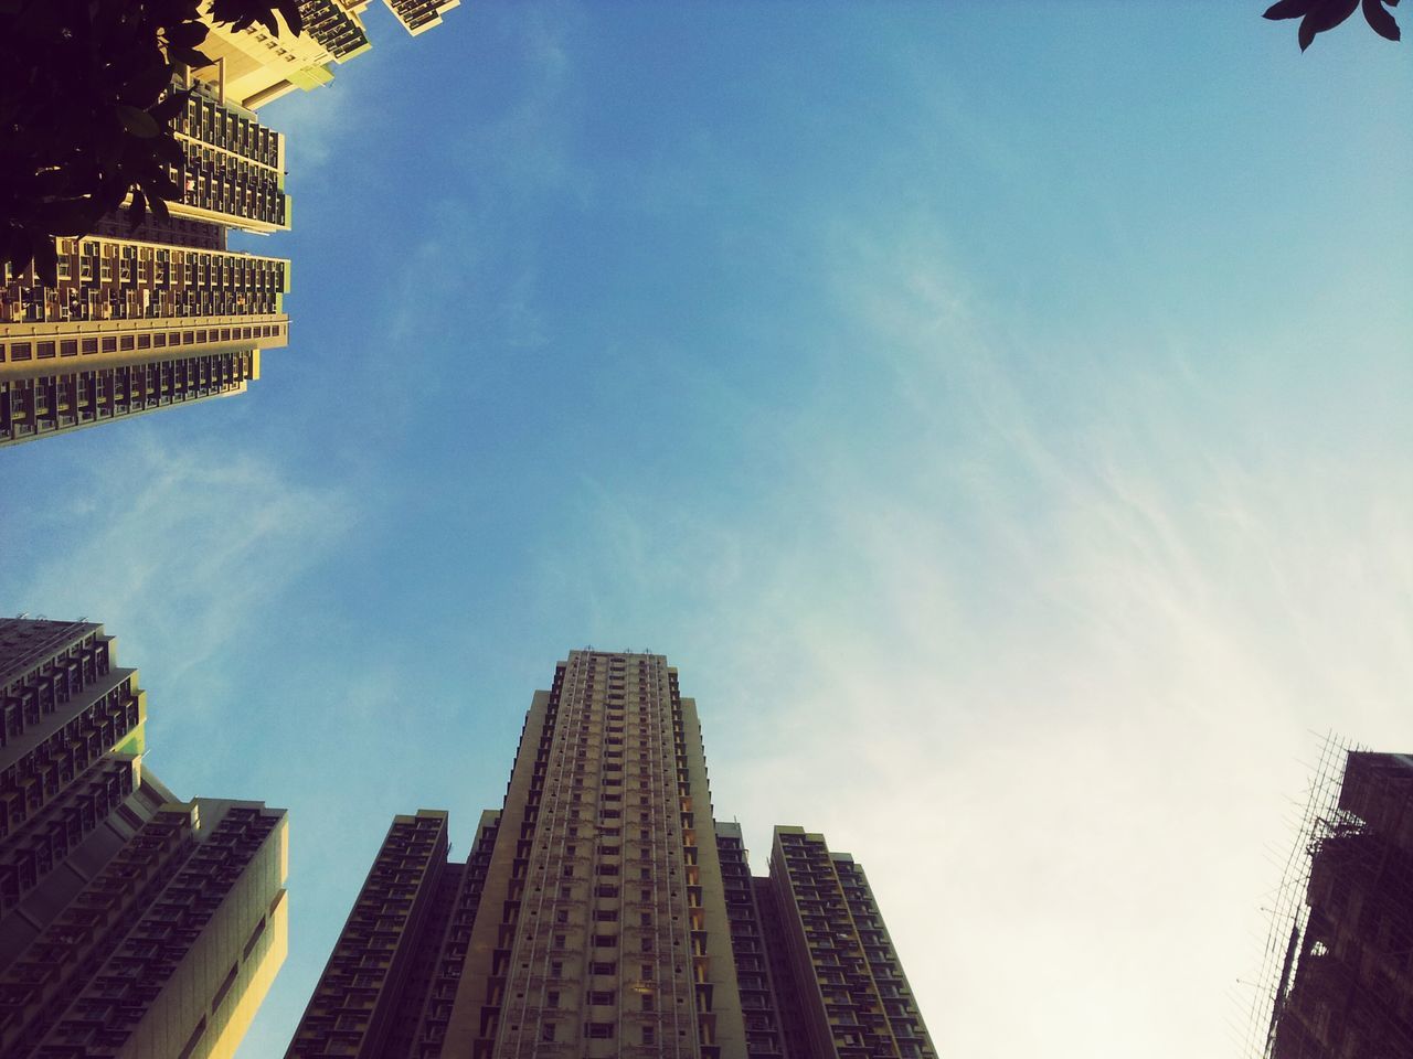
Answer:
<path fill-rule="evenodd" d="M 574 651 L 526 719 L 444 1056 L 743 1059 L 695 706 Z"/>

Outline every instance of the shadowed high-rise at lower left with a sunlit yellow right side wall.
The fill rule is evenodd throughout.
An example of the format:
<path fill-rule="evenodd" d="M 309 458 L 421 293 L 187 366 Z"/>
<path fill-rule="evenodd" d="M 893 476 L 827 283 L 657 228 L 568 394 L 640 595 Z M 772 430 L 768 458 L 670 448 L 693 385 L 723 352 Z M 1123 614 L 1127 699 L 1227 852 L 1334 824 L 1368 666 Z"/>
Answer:
<path fill-rule="evenodd" d="M 0 620 L 0 1055 L 229 1056 L 284 962 L 284 812 L 143 768 L 102 626 Z"/>

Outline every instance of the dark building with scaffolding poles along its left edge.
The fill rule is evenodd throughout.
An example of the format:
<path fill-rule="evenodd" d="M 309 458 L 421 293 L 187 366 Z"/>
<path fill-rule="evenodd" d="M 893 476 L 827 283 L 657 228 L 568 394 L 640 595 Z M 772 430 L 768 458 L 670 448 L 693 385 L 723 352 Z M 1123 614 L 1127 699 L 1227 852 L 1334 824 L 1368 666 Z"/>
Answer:
<path fill-rule="evenodd" d="M 1413 1056 L 1413 755 L 1327 744 L 1276 916 L 1265 1059 Z"/>

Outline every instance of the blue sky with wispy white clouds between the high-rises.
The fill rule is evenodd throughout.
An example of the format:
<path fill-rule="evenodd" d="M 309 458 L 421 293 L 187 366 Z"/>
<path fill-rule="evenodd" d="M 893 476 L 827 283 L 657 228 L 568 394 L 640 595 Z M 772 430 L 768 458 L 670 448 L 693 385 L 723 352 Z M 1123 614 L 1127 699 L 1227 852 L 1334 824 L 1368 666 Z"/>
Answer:
<path fill-rule="evenodd" d="M 288 349 L 0 455 L 0 609 L 291 816 L 283 1053 L 571 648 L 865 866 L 944 1056 L 1245 1056 L 1335 731 L 1413 748 L 1413 66 L 1263 4 L 472 3 L 261 110 Z"/>

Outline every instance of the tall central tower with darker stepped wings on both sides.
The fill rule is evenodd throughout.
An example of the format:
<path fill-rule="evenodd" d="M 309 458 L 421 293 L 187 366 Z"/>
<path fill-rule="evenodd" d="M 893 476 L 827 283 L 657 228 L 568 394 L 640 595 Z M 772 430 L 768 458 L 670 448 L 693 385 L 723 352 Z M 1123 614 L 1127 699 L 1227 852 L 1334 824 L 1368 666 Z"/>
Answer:
<path fill-rule="evenodd" d="M 448 861 L 394 819 L 288 1059 L 934 1056 L 862 870 L 776 832 L 753 878 L 661 655 L 572 651 Z"/>

